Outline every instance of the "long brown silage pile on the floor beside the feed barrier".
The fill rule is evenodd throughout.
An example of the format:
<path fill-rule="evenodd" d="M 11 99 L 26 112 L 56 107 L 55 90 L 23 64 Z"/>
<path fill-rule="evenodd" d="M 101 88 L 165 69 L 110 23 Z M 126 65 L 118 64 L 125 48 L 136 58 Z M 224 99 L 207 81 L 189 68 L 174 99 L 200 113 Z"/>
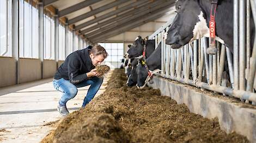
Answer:
<path fill-rule="evenodd" d="M 126 86 L 114 70 L 106 91 L 67 116 L 42 142 L 248 142 L 221 131 L 217 119 L 190 113 L 160 90 Z"/>

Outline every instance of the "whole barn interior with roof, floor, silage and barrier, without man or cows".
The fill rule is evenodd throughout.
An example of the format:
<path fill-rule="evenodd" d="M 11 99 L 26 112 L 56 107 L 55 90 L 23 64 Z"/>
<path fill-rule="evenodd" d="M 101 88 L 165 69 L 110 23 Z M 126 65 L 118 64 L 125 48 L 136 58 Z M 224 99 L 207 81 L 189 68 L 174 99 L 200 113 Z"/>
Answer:
<path fill-rule="evenodd" d="M 206 37 L 180 49 L 167 44 L 178 2 L 1 0 L 0 142 L 255 142 L 256 44 L 248 23 L 256 21 L 256 2 L 231 2 L 234 51 L 216 42 L 216 55 L 206 53 Z M 161 57 L 160 69 L 149 66 L 143 87 L 137 75 L 130 86 L 126 73 L 150 65 L 142 53 L 126 56 L 139 37 L 161 51 L 151 56 Z M 71 53 L 96 44 L 110 72 L 86 108 L 89 86 L 60 115 L 54 74 Z"/>

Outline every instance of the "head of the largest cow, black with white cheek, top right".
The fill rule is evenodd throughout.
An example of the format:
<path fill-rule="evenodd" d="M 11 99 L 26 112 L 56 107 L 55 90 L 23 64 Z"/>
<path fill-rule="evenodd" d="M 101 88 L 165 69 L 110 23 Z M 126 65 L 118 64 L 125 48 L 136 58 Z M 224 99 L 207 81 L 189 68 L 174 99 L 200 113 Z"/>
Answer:
<path fill-rule="evenodd" d="M 208 32 L 202 9 L 196 0 L 176 1 L 176 12 L 166 39 L 166 44 L 172 45 L 172 48 L 180 48 Z"/>

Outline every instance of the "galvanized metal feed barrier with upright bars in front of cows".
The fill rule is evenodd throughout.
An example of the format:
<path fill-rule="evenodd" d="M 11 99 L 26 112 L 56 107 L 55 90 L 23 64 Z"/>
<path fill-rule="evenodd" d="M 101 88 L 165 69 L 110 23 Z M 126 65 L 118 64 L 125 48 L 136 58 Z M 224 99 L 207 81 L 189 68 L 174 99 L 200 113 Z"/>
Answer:
<path fill-rule="evenodd" d="M 180 49 L 171 49 L 166 44 L 164 36 L 173 21 L 170 19 L 149 37 L 150 40 L 155 39 L 156 47 L 161 42 L 161 76 L 223 95 L 234 96 L 255 105 L 256 40 L 251 53 L 249 9 L 252 9 L 256 23 L 256 2 L 234 0 L 233 54 L 229 48 L 219 42 L 217 42 L 216 55 L 206 54 L 206 48 L 209 47 L 209 38 L 206 37 L 186 44 Z"/>

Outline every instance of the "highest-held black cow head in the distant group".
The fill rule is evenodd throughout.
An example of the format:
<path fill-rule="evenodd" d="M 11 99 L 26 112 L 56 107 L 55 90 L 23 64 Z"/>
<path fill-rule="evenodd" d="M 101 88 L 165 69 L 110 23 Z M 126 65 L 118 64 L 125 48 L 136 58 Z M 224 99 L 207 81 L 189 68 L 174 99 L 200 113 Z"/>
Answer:
<path fill-rule="evenodd" d="M 144 42 L 145 41 L 142 39 L 142 37 L 138 36 L 127 51 L 128 57 L 133 58 L 141 56 L 143 52 Z"/>

